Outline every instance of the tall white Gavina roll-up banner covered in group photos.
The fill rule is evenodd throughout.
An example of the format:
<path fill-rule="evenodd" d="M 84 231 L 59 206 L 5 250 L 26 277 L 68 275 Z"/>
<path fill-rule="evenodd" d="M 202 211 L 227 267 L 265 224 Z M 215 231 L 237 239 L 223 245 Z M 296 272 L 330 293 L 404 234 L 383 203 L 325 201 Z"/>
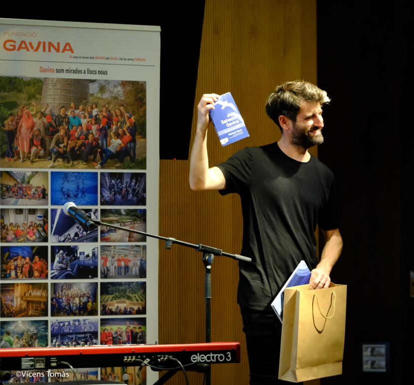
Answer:
<path fill-rule="evenodd" d="M 1 19 L 3 41 L 25 21 Z M 133 55 L 155 69 L 141 60 L 130 68 L 121 61 L 131 47 L 118 47 L 119 63 L 110 63 L 116 57 L 85 51 L 83 34 L 129 42 L 139 28 L 46 23 L 50 30 L 30 28 L 45 40 L 69 41 L 67 52 L 42 50 L 40 68 L 54 71 L 39 73 L 37 56 L 33 68 L 22 65 L 33 52 L 0 48 L 0 58 L 11 55 L 15 64 L 0 76 L 0 348 L 146 344 L 147 336 L 154 342 L 158 242 L 128 230 L 158 233 L 158 219 L 147 223 L 147 210 L 158 218 L 159 29 L 147 43 L 133 43 Z M 3 47 L 25 44 L 15 36 L 3 41 Z M 148 52 L 151 42 L 158 52 Z M 83 52 L 83 60 L 74 58 Z M 84 228 L 64 212 L 67 202 L 108 225 Z M 147 275 L 147 251 L 153 275 Z M 128 376 L 128 384 L 142 385 L 154 376 L 145 367 L 111 365 L 108 355 L 100 368 L 77 368 L 78 380 L 125 382 Z M 66 369 L 40 372 L 26 379 L 12 371 L 10 382 L 75 380 Z"/>

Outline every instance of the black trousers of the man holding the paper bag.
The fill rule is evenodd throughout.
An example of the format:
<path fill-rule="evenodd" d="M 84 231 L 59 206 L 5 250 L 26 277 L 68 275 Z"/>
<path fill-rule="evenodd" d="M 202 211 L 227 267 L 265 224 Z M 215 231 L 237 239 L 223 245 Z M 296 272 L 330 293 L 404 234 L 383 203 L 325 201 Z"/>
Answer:
<path fill-rule="evenodd" d="M 270 306 L 261 311 L 240 310 L 246 335 L 250 385 L 286 385 L 286 381 L 277 379 L 282 323 Z"/>

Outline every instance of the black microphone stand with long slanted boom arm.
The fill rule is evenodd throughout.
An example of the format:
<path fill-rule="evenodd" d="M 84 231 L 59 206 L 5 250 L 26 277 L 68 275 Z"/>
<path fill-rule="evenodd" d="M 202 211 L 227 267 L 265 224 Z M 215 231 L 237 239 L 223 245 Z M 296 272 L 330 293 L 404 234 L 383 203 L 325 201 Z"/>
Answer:
<path fill-rule="evenodd" d="M 127 229 L 121 226 L 117 226 L 114 224 L 110 224 L 110 223 L 104 223 L 101 222 L 98 219 L 91 219 L 91 221 L 93 223 L 95 223 L 97 226 L 100 225 L 104 225 L 107 227 L 112 227 L 112 228 L 116 228 L 118 230 L 123 230 L 123 231 L 129 231 L 129 232 L 133 232 L 136 234 L 141 234 L 141 235 L 146 235 L 152 238 L 157 238 L 157 239 L 161 239 L 163 241 L 165 241 L 165 247 L 166 249 L 171 249 L 171 247 L 173 246 L 174 243 L 179 244 L 181 246 L 185 246 L 185 247 L 190 247 L 195 249 L 196 251 L 199 251 L 201 253 L 203 253 L 203 264 L 204 264 L 204 268 L 205 268 L 205 279 L 204 279 L 204 298 L 205 298 L 205 302 L 206 302 L 206 342 L 211 342 L 211 265 L 214 262 L 214 255 L 216 256 L 224 256 L 227 258 L 232 258 L 238 261 L 243 261 L 243 262 L 251 262 L 251 258 L 249 257 L 245 257 L 243 255 L 238 255 L 238 254 L 230 254 L 227 252 L 224 252 L 221 249 L 217 249 L 215 247 L 211 247 L 211 246 L 207 246 L 207 245 L 203 245 L 203 244 L 195 244 L 195 243 L 189 243 L 189 242 L 185 242 L 185 241 L 181 241 L 179 239 L 176 238 L 172 238 L 172 237 L 164 237 L 164 236 L 160 236 L 160 235 L 155 235 L 155 234 L 150 234 L 147 233 L 145 231 L 138 231 L 135 229 Z M 173 372 L 172 374 L 165 374 L 163 377 L 161 377 L 157 382 L 154 383 L 154 385 L 159 385 L 159 384 L 165 384 L 165 382 L 170 379 L 171 377 L 174 376 L 175 373 L 177 373 L 177 370 L 175 371 L 171 371 Z M 164 379 L 164 377 L 166 377 Z M 209 366 L 208 366 L 208 371 L 206 372 L 206 384 L 210 385 L 211 384 L 211 373 L 209 370 Z"/>

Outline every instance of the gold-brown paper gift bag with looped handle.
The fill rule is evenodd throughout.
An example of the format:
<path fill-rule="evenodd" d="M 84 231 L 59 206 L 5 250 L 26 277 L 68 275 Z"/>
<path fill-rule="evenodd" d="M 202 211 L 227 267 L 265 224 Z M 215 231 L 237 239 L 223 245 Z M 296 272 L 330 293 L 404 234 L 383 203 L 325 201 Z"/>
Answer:
<path fill-rule="evenodd" d="M 342 374 L 346 285 L 284 291 L 279 380 L 298 383 Z"/>

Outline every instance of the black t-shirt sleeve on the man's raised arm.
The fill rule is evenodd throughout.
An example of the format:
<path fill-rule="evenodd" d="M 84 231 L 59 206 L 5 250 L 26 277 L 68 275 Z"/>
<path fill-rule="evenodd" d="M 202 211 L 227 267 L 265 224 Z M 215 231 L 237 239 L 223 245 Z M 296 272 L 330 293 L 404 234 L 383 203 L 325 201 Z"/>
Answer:
<path fill-rule="evenodd" d="M 251 151 L 249 148 L 238 151 L 217 167 L 223 172 L 225 189 L 220 190 L 221 195 L 231 192 L 242 192 L 250 184 L 251 177 Z"/>

